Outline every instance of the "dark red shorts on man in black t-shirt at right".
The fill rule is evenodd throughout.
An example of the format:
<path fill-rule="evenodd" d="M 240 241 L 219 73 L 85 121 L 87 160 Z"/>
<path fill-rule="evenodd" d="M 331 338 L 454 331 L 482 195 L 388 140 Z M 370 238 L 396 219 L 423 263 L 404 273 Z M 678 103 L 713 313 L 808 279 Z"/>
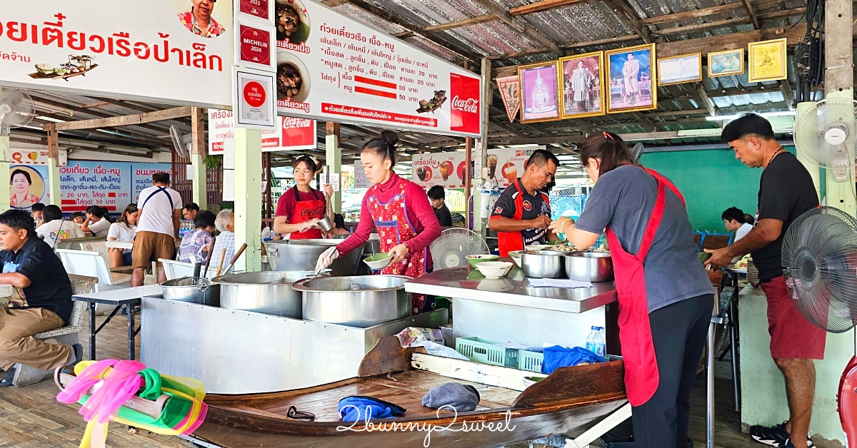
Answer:
<path fill-rule="evenodd" d="M 806 320 L 794 306 L 782 277 L 760 285 L 768 297 L 770 355 L 774 359 L 824 359 L 827 332 Z"/>

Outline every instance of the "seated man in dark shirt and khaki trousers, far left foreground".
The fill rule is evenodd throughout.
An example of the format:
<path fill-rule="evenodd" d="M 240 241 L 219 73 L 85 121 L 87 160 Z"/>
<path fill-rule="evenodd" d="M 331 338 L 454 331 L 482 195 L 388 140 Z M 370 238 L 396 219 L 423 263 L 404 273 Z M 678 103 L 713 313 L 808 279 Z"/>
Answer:
<path fill-rule="evenodd" d="M 71 282 L 45 242 L 36 238 L 33 218 L 21 210 L 0 214 L 0 284 L 11 284 L 15 294 L 0 306 L 0 368 L 16 363 L 53 370 L 81 359 L 81 344 L 40 341 L 33 334 L 64 326 L 71 317 Z M 10 385 L 15 372 L 0 381 Z"/>

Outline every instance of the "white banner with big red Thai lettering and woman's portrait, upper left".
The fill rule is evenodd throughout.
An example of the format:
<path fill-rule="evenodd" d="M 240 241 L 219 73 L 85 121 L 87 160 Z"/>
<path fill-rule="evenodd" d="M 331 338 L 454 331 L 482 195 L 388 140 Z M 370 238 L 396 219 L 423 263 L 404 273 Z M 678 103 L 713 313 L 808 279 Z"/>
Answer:
<path fill-rule="evenodd" d="M 0 0 L 4 86 L 231 105 L 229 0 L 40 0 L 38 7 L 21 6 Z M 201 29 L 203 21 L 208 26 Z"/>

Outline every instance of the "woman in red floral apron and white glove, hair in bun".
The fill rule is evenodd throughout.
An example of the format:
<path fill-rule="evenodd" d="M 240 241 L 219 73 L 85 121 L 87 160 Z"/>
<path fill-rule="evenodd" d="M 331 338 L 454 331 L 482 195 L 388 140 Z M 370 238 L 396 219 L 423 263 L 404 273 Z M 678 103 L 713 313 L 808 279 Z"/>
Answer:
<path fill-rule="evenodd" d="M 360 161 L 372 186 L 363 197 L 360 223 L 353 235 L 321 254 L 316 268 L 330 266 L 339 255 L 363 248 L 375 227 L 381 251 L 393 258 L 381 274 L 420 277 L 431 272 L 428 244 L 440 236 L 440 224 L 423 188 L 393 172 L 398 142 L 399 135 L 386 130 L 363 145 Z M 411 297 L 413 313 L 418 314 L 425 305 L 425 296 Z"/>

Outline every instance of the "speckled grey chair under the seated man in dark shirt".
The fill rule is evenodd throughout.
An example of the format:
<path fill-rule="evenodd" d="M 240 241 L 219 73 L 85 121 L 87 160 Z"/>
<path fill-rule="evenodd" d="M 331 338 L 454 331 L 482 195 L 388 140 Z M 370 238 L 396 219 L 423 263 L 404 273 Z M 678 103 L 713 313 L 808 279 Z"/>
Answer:
<path fill-rule="evenodd" d="M 71 280 L 71 294 L 88 294 L 93 291 L 99 279 L 82 275 L 69 274 Z M 71 345 L 77 343 L 77 333 L 83 328 L 83 320 L 87 315 L 87 302 L 75 302 L 71 308 L 71 316 L 65 326 L 40 332 L 33 337 L 41 340 L 55 339 L 57 343 L 63 345 Z M 23 366 L 16 364 L 18 370 L 15 372 L 15 377 L 12 379 L 12 385 L 15 387 L 24 387 L 33 385 L 51 377 L 53 372 L 50 370 L 42 370 L 36 367 Z"/>

